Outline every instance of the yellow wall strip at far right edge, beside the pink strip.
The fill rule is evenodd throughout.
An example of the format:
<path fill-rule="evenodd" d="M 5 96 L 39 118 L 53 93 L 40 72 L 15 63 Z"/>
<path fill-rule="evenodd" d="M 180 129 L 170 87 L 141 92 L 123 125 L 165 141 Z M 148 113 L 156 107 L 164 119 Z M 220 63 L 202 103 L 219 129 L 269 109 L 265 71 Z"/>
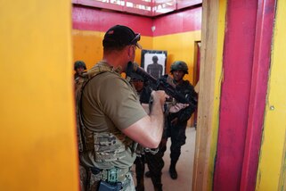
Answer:
<path fill-rule="evenodd" d="M 266 117 L 256 190 L 285 190 L 286 185 L 286 1 L 277 1 Z"/>

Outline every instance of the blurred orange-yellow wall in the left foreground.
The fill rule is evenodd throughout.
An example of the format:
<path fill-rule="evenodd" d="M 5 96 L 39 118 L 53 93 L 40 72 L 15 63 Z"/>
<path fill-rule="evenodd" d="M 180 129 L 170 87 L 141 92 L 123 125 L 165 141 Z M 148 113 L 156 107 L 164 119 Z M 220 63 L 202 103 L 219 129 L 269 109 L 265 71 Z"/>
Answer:
<path fill-rule="evenodd" d="M 71 4 L 0 6 L 1 190 L 78 190 Z"/>

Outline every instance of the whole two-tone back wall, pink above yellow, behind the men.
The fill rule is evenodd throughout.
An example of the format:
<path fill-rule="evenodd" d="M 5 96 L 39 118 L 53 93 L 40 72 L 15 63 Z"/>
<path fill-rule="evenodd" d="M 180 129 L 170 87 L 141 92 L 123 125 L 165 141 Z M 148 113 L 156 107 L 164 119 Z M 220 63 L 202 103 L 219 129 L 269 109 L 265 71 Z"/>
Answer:
<path fill-rule="evenodd" d="M 94 19 L 97 18 L 97 19 Z M 115 24 L 124 24 L 141 33 L 143 49 L 167 50 L 167 72 L 170 64 L 183 60 L 189 66 L 185 79 L 193 82 L 194 42 L 200 41 L 201 7 L 176 12 L 156 19 L 118 12 L 102 12 L 96 8 L 73 7 L 73 61 L 83 60 L 91 68 L 102 59 L 104 32 Z M 155 30 L 151 30 L 155 27 Z M 135 62 L 141 63 L 137 50 Z"/>

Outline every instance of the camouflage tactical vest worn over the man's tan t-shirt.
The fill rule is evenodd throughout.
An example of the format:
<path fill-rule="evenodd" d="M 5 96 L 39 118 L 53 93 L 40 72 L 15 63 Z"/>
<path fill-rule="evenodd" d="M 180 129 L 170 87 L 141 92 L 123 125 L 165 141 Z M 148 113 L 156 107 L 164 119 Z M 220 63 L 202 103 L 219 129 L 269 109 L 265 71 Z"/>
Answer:
<path fill-rule="evenodd" d="M 94 151 L 95 162 L 112 162 L 126 156 L 126 146 L 135 152 L 137 144 L 123 133 L 115 136 L 111 129 L 109 132 L 94 132 L 88 129 L 82 120 L 81 98 L 83 90 L 90 79 L 103 72 L 113 72 L 118 75 L 118 70 L 106 62 L 98 62 L 92 69 L 75 80 L 78 150 L 79 153 Z"/>

